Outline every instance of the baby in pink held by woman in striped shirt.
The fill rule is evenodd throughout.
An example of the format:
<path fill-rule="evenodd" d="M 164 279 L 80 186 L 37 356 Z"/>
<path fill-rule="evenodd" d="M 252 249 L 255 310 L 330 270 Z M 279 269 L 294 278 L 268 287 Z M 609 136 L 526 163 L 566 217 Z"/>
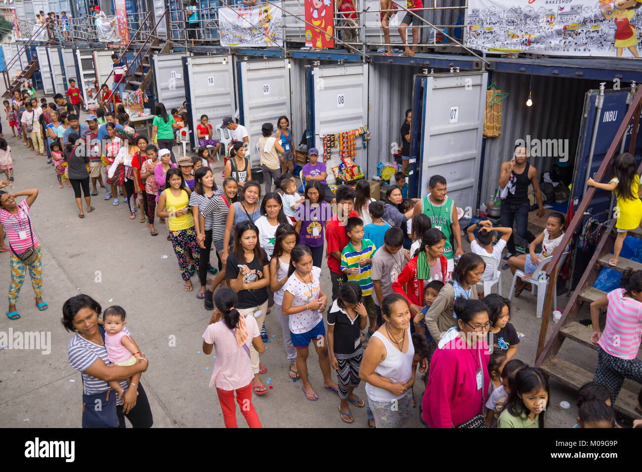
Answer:
<path fill-rule="evenodd" d="M 105 326 L 105 349 L 109 359 L 109 367 L 116 365 L 134 365 L 137 360 L 147 360 L 141 355 L 138 345 L 125 331 L 125 310 L 121 306 L 110 306 L 103 313 Z M 130 379 L 128 379 L 130 381 Z M 118 398 L 123 396 L 125 390 L 118 381 L 110 381 L 110 387 L 118 392 Z"/>

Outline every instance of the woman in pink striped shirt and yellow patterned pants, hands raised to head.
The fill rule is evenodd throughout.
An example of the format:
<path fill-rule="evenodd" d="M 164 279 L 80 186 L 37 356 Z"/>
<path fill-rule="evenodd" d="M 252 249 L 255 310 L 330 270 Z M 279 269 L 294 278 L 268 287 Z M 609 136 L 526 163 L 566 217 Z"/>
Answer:
<path fill-rule="evenodd" d="M 0 188 L 9 185 L 7 180 L 0 182 Z M 27 197 L 16 204 L 16 197 Z M 33 234 L 31 227 L 31 205 L 38 197 L 38 190 L 23 190 L 16 193 L 0 191 L 0 223 L 2 223 L 6 236 L 9 238 L 9 247 L 12 255 L 10 260 L 11 283 L 9 284 L 9 310 L 6 316 L 10 320 L 17 320 L 20 314 L 15 310 L 18 295 L 24 282 L 24 277 L 29 269 L 31 286 L 36 295 L 38 310 L 47 310 L 48 305 L 42 301 L 42 255 L 38 238 Z"/>

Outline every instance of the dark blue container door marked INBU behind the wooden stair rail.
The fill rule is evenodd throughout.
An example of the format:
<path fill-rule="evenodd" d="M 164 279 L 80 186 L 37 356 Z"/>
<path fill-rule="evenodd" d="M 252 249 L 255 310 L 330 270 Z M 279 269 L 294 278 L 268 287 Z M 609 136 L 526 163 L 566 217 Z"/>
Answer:
<path fill-rule="evenodd" d="M 629 109 L 629 105 L 627 105 L 629 92 L 630 89 L 621 89 L 619 91 L 607 89 L 604 91 L 602 114 L 600 115 L 600 124 L 598 125 L 590 171 L 587 171 L 587 168 L 589 167 L 593 127 L 598 111 L 595 107 L 595 101 L 600 91 L 589 90 L 586 92 L 584 98 L 584 113 L 582 114 L 582 128 L 577 147 L 577 157 L 575 158 L 575 170 L 573 172 L 573 185 L 571 186 L 571 197 L 576 210 L 582 200 L 582 195 L 584 195 L 586 180 L 589 177 L 594 177 L 600 165 L 602 165 L 607 150 L 609 150 L 609 146 L 611 146 L 612 137 L 618 132 L 618 128 L 620 128 L 622 124 L 622 119 Z M 631 131 L 632 125 L 629 125 L 627 140 L 625 142 L 626 150 L 629 149 Z M 638 165 L 642 158 L 642 135 L 639 131 L 638 129 L 635 153 Z M 616 154 L 618 153 L 619 150 Z M 608 180 L 603 180 L 603 182 L 608 182 Z M 600 220 L 600 222 L 605 222 L 611 218 L 611 216 L 609 216 L 611 210 L 611 195 L 612 193 L 609 191 L 596 189 L 593 199 L 586 209 L 587 213 L 591 213 L 591 215 Z"/>

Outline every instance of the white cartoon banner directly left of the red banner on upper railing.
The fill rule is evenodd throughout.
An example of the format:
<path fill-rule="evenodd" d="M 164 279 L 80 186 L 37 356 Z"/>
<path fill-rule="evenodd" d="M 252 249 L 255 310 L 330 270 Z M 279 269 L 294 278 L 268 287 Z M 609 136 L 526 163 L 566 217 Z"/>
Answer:
<path fill-rule="evenodd" d="M 272 5 L 218 9 L 221 44 L 243 48 L 283 46 L 282 12 Z"/>

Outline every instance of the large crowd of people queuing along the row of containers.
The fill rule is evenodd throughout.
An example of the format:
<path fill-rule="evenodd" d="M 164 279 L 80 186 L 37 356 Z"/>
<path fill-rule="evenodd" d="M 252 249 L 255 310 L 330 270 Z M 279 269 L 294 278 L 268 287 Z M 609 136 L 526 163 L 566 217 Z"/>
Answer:
<path fill-rule="evenodd" d="M 516 357 L 519 337 L 509 321 L 510 302 L 480 292 L 477 285 L 492 276 L 482 256 L 501 261 L 513 222 L 471 225 L 466 233 L 471 252 L 464 252 L 456 202 L 447 197 L 444 177 L 431 176 L 428 195 L 412 199 L 400 172 L 381 202 L 370 195 L 366 181 L 333 191 L 318 150 L 311 148 L 297 189 L 290 171 L 290 123 L 283 116 L 276 134 L 274 125 L 265 123 L 257 140 L 265 179 L 259 184 L 247 157 L 247 130 L 231 117 L 221 123 L 234 139 L 218 177 L 212 166 L 221 144 L 207 116 L 198 128 L 198 155 L 177 158 L 170 135 L 178 110 L 168 114 L 162 103 L 150 139 L 128 126 L 124 110 L 105 113 L 102 122 L 90 114 L 81 124 L 76 104 L 61 95 L 48 103 L 17 92 L 4 105 L 14 135 L 46 156 L 59 188 L 65 183 L 73 188 L 79 218 L 95 210 L 91 197 L 98 195 L 98 183 L 113 205 L 122 195 L 129 218 L 140 211 L 139 221 L 151 236 L 159 234 L 155 218 L 166 224 L 184 290 L 193 291 L 192 278 L 198 274 L 196 297 L 213 312 L 202 352 L 216 349 L 210 386 L 216 387 L 225 426 L 236 426 L 235 395 L 239 405 L 248 405 L 241 408 L 247 423 L 261 426 L 252 394 L 270 391 L 261 378 L 268 367 L 260 358 L 270 340 L 268 313 L 279 319 L 291 380 L 300 381 L 308 401 L 318 400 L 320 387 L 336 393 L 337 415 L 345 423 L 354 422 L 351 408 L 356 407 L 366 408 L 370 427 L 399 427 L 420 405 L 421 421 L 431 428 L 544 426 L 550 403 L 546 376 Z M 500 176 L 507 180 L 507 195 L 516 200 L 514 214 L 521 214 L 521 191 L 534 169 L 527 158 L 525 150 L 516 148 Z M 1 138 L 0 166 L 7 177 L 0 186 L 20 177 L 13 174 L 10 148 Z M 12 320 L 20 317 L 17 299 L 27 271 L 39 310 L 48 308 L 30 219 L 37 194 L 0 191 L 0 222 L 10 243 L 0 250 L 12 252 L 6 313 Z M 21 196 L 26 198 L 17 202 Z M 563 214 L 549 214 L 546 229 L 528 238 L 528 254 L 508 256 L 510 268 L 532 272 L 560 244 L 565 223 Z M 326 267 L 328 293 L 320 282 Z M 642 332 L 642 272 L 625 274 L 622 286 L 591 306 L 594 316 L 608 307 L 609 335 L 600 337 L 599 329 L 594 334 L 600 363 L 595 382 L 580 390 L 579 427 L 613 426 L 611 404 L 623 378 L 642 380 L 635 358 Z M 516 295 L 525 288 L 518 280 Z M 69 363 L 83 372 L 83 401 L 95 397 L 112 405 L 110 415 L 83 414 L 83 426 L 124 426 L 125 416 L 134 426 L 151 426 L 151 409 L 139 383 L 148 360 L 125 328 L 125 310 L 111 306 L 100 318 L 100 304 L 77 295 L 65 302 L 63 314 L 65 328 L 76 332 Z M 597 319 L 593 326 L 599 326 Z M 615 335 L 627 345 L 612 345 Z M 322 385 L 308 377 L 311 343 Z M 422 398 L 415 398 L 417 376 L 425 385 Z M 361 381 L 366 398 L 355 393 Z M 109 396 L 110 389 L 117 395 Z"/>

